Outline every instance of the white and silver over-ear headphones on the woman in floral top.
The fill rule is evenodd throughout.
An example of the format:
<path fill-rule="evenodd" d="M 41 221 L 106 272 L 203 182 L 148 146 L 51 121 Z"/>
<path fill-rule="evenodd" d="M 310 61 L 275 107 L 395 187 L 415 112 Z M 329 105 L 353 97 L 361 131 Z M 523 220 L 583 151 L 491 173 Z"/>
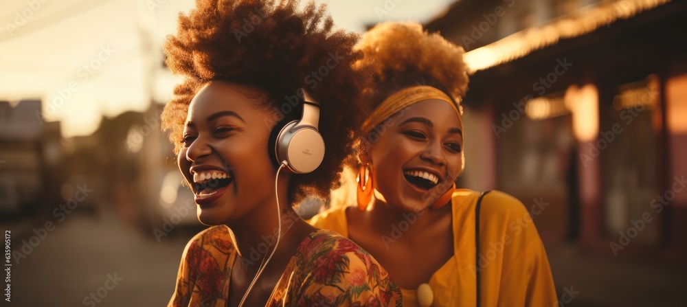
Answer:
<path fill-rule="evenodd" d="M 317 130 L 319 102 L 305 90 L 303 98 L 303 116 L 279 131 L 274 148 L 277 163 L 286 161 L 286 167 L 296 174 L 312 172 L 324 159 L 324 139 Z"/>

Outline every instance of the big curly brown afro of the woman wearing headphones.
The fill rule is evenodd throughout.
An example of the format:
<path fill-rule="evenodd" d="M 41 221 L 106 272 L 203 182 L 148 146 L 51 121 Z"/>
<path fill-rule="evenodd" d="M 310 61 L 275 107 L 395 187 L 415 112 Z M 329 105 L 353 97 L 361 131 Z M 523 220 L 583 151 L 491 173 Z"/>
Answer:
<path fill-rule="evenodd" d="M 181 148 L 188 106 L 207 82 L 258 89 L 258 107 L 266 110 L 280 109 L 304 88 L 319 100 L 326 151 L 317 170 L 292 177 L 289 197 L 293 203 L 306 195 L 326 197 L 339 186 L 342 161 L 350 160 L 371 74 L 354 49 L 359 36 L 333 26 L 324 5 L 310 2 L 298 10 L 297 0 L 197 0 L 194 10 L 179 14 L 177 34 L 164 46 L 167 66 L 184 77 L 162 113 L 174 152 Z M 293 110 L 284 121 L 300 118 L 302 106 Z"/>

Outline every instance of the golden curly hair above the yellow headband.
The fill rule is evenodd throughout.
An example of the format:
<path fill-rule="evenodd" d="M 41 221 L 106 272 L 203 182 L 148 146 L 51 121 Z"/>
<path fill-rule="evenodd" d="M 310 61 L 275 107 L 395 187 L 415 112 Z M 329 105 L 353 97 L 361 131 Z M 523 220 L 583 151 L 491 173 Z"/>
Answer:
<path fill-rule="evenodd" d="M 457 102 L 468 87 L 464 50 L 413 22 L 385 22 L 363 35 L 358 49 L 374 65 L 368 87 L 372 107 L 396 91 L 414 85 L 436 87 Z"/>

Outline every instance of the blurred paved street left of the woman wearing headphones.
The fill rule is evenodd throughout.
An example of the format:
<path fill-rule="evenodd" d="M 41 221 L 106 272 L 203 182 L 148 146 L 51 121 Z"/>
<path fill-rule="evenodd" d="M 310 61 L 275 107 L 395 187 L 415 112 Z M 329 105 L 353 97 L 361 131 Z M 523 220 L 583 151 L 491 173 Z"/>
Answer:
<path fill-rule="evenodd" d="M 12 249 L 21 251 L 32 227 L 12 228 Z M 19 264 L 12 260 L 12 306 L 166 306 L 192 236 L 182 230 L 158 243 L 112 215 L 75 212 Z"/>

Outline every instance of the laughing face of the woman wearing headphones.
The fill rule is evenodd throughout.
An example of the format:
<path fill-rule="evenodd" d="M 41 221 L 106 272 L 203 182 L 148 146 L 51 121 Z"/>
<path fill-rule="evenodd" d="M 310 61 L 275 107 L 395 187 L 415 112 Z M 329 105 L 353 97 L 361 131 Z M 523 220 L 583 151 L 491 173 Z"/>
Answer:
<path fill-rule="evenodd" d="M 188 108 L 177 162 L 205 225 L 228 225 L 275 202 L 276 171 L 266 146 L 271 127 L 264 124 L 271 115 L 245 95 L 250 91 L 213 81 Z"/>

